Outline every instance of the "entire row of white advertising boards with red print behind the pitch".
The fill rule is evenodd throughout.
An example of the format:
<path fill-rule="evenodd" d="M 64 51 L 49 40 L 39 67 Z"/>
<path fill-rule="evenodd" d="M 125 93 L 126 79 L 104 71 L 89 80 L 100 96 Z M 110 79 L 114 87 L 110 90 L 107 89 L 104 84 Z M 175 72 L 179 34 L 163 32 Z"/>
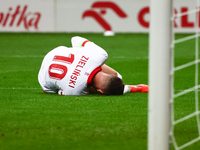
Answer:
<path fill-rule="evenodd" d="M 0 32 L 149 31 L 149 0 L 0 0 Z M 196 0 L 174 0 L 175 14 Z M 197 13 L 174 19 L 175 32 L 195 32 Z M 160 14 L 162 15 L 162 14 Z M 158 24 L 159 26 L 159 24 Z"/>

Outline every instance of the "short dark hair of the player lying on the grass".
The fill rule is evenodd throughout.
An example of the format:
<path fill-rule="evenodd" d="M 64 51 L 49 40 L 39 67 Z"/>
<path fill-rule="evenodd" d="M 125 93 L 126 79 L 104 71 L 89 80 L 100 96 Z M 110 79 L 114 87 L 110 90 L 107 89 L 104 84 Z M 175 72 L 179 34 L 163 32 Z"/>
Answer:
<path fill-rule="evenodd" d="M 105 95 L 122 95 L 124 92 L 124 83 L 122 79 L 112 75 L 107 82 L 107 86 L 104 89 Z"/>

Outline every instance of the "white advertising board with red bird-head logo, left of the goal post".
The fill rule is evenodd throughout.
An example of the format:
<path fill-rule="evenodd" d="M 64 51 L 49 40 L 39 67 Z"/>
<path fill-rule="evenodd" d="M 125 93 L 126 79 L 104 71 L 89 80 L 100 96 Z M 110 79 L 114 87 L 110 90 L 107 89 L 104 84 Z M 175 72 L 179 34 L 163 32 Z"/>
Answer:
<path fill-rule="evenodd" d="M 148 6 L 148 0 L 134 4 L 133 0 L 97 1 L 97 0 L 58 0 L 57 31 L 72 32 L 147 32 L 148 29 L 138 23 L 138 13 Z M 149 19 L 149 14 L 145 16 Z"/>

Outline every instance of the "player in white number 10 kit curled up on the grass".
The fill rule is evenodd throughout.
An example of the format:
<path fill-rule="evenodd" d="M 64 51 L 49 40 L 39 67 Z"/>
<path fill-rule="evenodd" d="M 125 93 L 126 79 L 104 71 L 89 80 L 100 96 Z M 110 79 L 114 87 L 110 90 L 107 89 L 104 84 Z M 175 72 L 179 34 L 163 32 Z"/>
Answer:
<path fill-rule="evenodd" d="M 125 85 L 122 76 L 107 66 L 108 54 L 85 38 L 75 36 L 72 47 L 59 46 L 43 59 L 38 80 L 44 93 L 59 95 L 122 95 L 148 92 L 147 85 Z"/>

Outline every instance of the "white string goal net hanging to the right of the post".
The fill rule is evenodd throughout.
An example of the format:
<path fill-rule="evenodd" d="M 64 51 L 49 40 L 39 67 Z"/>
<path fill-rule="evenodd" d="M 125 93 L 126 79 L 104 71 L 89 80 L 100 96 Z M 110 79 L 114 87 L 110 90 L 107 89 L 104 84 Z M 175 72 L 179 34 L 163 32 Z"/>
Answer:
<path fill-rule="evenodd" d="M 172 76 L 173 86 L 171 95 L 171 129 L 170 136 L 173 147 L 181 150 L 200 140 L 200 109 L 199 109 L 199 0 L 195 7 L 187 12 L 176 13 L 171 18 L 172 24 L 176 18 L 193 16 L 195 19 L 195 33 L 185 37 L 175 37 L 172 29 Z M 175 26 L 175 25 L 174 25 Z M 188 46 L 189 45 L 189 46 Z M 183 50 L 184 49 L 184 50 Z M 182 53 L 180 56 L 180 51 Z M 182 59 L 182 61 L 180 60 Z M 184 59 L 184 60 L 183 60 Z M 182 84 L 182 85 L 180 85 Z M 185 84 L 185 85 L 184 85 Z M 182 105 L 181 103 L 185 103 Z M 185 108 L 179 108 L 185 106 Z M 192 107 L 191 107 L 192 106 Z M 179 110 L 180 109 L 180 110 Z M 185 131 L 185 129 L 191 129 Z M 190 127 L 188 127 L 190 126 Z M 178 133 L 181 132 L 181 133 Z M 190 132 L 196 134 L 190 135 Z M 176 137 L 177 135 L 177 137 Z M 182 136 L 181 138 L 178 136 Z M 185 136 L 185 137 L 184 137 Z"/>

